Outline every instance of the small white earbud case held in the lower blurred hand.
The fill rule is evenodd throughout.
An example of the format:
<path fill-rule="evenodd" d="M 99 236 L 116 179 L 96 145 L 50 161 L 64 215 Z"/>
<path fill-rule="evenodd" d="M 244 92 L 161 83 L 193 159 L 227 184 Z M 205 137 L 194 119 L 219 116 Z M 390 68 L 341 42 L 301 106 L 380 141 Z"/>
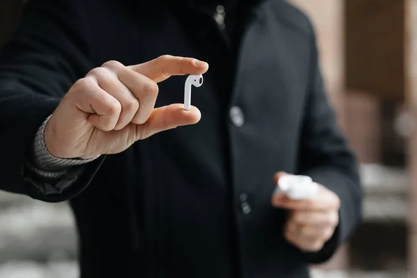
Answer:
<path fill-rule="evenodd" d="M 284 193 L 290 199 L 311 199 L 318 193 L 318 183 L 311 177 L 288 174 L 279 178 L 276 193 Z"/>

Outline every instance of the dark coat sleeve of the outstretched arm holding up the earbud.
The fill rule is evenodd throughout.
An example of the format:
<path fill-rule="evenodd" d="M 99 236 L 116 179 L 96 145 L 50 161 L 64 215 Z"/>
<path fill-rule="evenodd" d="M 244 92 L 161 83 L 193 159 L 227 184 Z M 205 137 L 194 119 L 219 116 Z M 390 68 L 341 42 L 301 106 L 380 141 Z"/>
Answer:
<path fill-rule="evenodd" d="M 65 92 L 91 66 L 88 35 L 76 0 L 33 0 L 0 52 L 0 189 L 61 202 L 88 185 L 103 158 L 67 169 L 60 179 L 33 170 L 35 134 Z"/>

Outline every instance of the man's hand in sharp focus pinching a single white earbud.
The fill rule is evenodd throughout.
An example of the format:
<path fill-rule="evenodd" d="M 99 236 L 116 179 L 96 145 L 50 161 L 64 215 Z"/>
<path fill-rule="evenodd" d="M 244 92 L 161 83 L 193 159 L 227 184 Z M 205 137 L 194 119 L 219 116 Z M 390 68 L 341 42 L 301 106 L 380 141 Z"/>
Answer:
<path fill-rule="evenodd" d="M 207 63 L 161 56 L 140 65 L 104 63 L 76 81 L 51 115 L 45 145 L 59 158 L 93 158 L 117 154 L 137 140 L 177 126 L 195 124 L 192 107 L 172 104 L 154 108 L 158 82 L 173 75 L 204 74 Z"/>

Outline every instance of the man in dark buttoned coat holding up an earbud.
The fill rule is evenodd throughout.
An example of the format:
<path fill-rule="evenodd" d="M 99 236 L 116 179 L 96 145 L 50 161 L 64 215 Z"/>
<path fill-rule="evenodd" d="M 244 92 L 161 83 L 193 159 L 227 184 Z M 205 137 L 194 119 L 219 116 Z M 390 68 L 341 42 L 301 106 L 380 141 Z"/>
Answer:
<path fill-rule="evenodd" d="M 27 5 L 0 60 L 1 186 L 70 200 L 81 277 L 309 277 L 359 223 L 313 28 L 286 1 Z M 190 111 L 186 74 L 204 74 Z M 274 195 L 285 173 L 320 193 Z"/>

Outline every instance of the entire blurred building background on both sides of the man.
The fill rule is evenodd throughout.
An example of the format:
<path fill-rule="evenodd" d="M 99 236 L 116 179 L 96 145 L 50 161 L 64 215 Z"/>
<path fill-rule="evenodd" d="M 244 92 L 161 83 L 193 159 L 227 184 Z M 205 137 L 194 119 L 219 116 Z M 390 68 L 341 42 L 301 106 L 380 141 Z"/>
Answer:
<path fill-rule="evenodd" d="M 417 277 L 417 1 L 291 0 L 316 26 L 338 119 L 361 163 L 365 220 L 313 277 Z M 0 0 L 0 45 L 24 3 Z M 1 181 L 0 181 L 1 182 Z M 0 192 L 0 278 L 77 277 L 67 204 Z"/>

